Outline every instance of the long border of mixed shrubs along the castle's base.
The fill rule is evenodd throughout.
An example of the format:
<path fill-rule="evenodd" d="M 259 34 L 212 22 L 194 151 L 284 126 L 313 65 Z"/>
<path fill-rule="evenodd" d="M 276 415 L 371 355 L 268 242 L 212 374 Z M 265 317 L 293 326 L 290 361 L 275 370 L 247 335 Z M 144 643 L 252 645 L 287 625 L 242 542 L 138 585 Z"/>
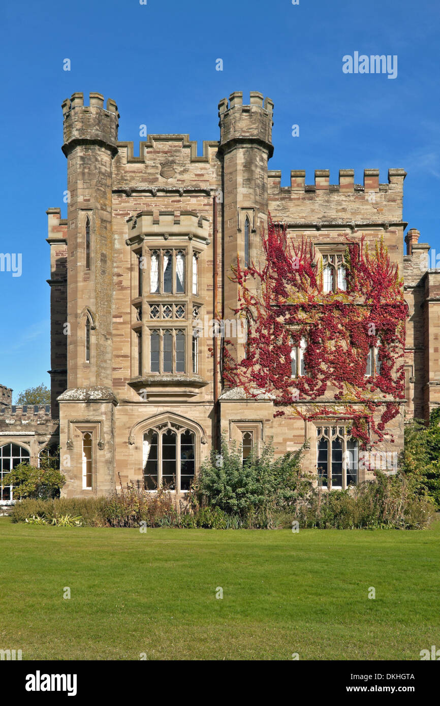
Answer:
<path fill-rule="evenodd" d="M 292 455 L 287 454 L 273 462 L 273 466 L 275 470 L 268 472 L 266 477 L 263 474 L 259 478 L 254 476 L 252 484 L 249 480 L 251 474 L 247 475 L 245 490 L 248 495 L 242 493 L 242 501 L 246 498 L 247 501 L 242 502 L 240 512 L 227 512 L 220 503 L 216 505 L 214 502 L 196 505 L 196 494 L 193 493 L 186 501 L 186 508 L 179 513 L 169 491 L 161 489 L 157 493 L 146 493 L 131 485 L 115 491 L 109 498 L 26 498 L 13 506 L 11 517 L 13 522 L 29 524 L 93 527 L 139 527 L 145 522 L 148 527 L 270 530 L 291 527 L 295 520 L 300 527 L 319 529 L 412 530 L 424 529 L 434 516 L 434 501 L 426 492 L 421 493 L 419 479 L 414 473 L 398 472 L 395 476 L 387 476 L 376 472 L 375 481 L 367 481 L 346 491 L 326 491 L 320 486 L 312 486 Z M 237 466 L 232 465 L 232 469 L 235 474 Z M 239 483 L 233 486 L 227 470 L 224 472 L 221 492 L 210 499 L 220 497 L 223 502 L 225 497 L 240 498 Z M 285 485 L 274 488 L 274 477 L 284 479 Z M 212 481 L 213 474 L 210 479 Z M 226 495 L 225 487 L 229 495 Z"/>

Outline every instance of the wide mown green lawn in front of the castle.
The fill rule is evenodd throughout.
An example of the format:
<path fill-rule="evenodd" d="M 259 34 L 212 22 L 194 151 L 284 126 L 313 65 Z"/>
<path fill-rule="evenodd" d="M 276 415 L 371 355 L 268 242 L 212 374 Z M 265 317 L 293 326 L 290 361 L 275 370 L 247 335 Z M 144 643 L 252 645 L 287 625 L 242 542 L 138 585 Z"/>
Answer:
<path fill-rule="evenodd" d="M 440 647 L 439 564 L 440 522 L 141 534 L 0 517 L 0 648 L 23 659 L 420 659 Z"/>

